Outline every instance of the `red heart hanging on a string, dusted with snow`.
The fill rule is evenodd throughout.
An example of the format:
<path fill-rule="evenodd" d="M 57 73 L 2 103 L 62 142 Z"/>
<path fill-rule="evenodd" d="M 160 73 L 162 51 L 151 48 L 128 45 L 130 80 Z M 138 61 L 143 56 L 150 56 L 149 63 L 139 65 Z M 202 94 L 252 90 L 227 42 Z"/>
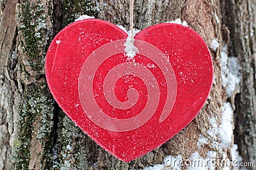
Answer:
<path fill-rule="evenodd" d="M 209 49 L 189 27 L 143 29 L 134 37 L 134 58 L 124 52 L 126 39 L 109 22 L 81 20 L 58 33 L 45 60 L 49 89 L 62 110 L 125 162 L 184 129 L 204 105 L 213 78 Z"/>

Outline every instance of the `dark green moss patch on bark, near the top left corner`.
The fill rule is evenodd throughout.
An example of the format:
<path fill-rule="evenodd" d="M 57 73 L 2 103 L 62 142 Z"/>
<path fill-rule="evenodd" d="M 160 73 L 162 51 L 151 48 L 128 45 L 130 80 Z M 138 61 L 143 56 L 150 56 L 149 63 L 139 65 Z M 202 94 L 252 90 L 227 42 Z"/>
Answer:
<path fill-rule="evenodd" d="M 42 71 L 44 62 L 42 57 L 45 54 L 45 46 L 49 39 L 49 28 L 44 4 L 31 4 L 26 1 L 17 6 L 17 22 L 19 23 L 20 43 L 22 49 L 29 57 L 29 66 L 34 71 Z"/>

